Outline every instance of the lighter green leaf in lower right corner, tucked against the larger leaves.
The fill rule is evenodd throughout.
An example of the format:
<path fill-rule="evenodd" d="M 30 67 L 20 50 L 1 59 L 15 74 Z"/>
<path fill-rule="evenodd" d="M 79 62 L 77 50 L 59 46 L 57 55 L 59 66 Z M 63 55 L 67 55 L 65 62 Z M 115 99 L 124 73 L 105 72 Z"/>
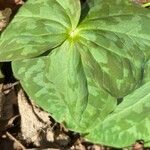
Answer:
<path fill-rule="evenodd" d="M 115 111 L 93 128 L 87 138 L 95 143 L 127 147 L 150 139 L 150 82 L 126 96 Z"/>

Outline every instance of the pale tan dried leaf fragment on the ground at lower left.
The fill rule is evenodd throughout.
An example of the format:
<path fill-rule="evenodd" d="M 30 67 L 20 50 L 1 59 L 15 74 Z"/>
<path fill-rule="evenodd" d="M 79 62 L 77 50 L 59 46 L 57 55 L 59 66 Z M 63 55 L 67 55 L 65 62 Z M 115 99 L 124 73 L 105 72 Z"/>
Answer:
<path fill-rule="evenodd" d="M 24 140 L 44 147 L 54 141 L 49 114 L 29 103 L 23 90 L 18 92 L 18 106 L 21 115 L 21 133 Z"/>

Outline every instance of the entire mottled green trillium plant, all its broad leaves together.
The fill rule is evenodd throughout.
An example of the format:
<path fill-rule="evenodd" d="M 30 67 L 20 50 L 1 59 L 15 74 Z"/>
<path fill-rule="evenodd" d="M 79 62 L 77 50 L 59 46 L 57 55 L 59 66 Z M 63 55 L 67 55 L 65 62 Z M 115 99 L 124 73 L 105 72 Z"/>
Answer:
<path fill-rule="evenodd" d="M 37 105 L 88 141 L 150 146 L 150 11 L 128 0 L 28 0 L 0 61 Z"/>

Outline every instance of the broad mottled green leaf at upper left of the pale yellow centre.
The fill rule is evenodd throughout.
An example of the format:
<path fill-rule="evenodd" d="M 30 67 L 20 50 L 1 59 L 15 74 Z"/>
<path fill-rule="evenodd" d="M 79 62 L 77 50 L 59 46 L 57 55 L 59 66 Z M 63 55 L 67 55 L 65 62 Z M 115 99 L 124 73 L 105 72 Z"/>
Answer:
<path fill-rule="evenodd" d="M 31 58 L 60 45 L 79 17 L 79 0 L 28 0 L 1 35 L 0 60 Z"/>

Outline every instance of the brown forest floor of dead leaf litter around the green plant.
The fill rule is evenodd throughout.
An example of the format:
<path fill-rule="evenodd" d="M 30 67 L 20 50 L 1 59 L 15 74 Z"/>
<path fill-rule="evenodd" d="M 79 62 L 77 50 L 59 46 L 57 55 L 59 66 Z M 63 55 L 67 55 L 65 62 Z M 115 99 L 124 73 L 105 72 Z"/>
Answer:
<path fill-rule="evenodd" d="M 134 1 L 139 4 L 150 2 Z M 1 32 L 23 4 L 22 0 L 0 0 L 0 17 L 5 17 L 0 20 Z M 28 99 L 20 83 L 13 78 L 10 68 L 10 63 L 3 64 L 5 78 L 0 81 L 0 150 L 114 149 L 86 142 L 78 133 L 69 131 L 62 124 L 55 122 L 48 113 Z M 130 149 L 142 150 L 143 145 L 142 141 L 137 141 Z"/>

